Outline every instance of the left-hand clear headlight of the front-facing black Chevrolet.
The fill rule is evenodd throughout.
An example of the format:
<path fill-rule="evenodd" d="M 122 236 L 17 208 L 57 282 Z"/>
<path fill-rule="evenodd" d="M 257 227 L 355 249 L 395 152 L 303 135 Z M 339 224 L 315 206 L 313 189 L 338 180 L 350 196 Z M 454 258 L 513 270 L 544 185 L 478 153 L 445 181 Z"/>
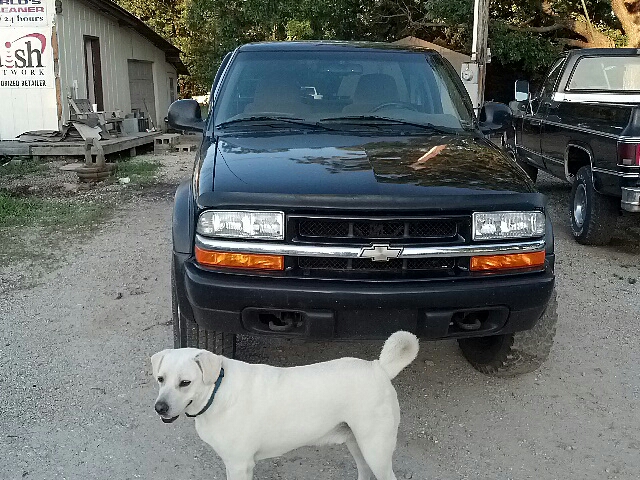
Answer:
<path fill-rule="evenodd" d="M 284 213 L 207 210 L 200 214 L 196 231 L 207 237 L 284 240 Z"/>

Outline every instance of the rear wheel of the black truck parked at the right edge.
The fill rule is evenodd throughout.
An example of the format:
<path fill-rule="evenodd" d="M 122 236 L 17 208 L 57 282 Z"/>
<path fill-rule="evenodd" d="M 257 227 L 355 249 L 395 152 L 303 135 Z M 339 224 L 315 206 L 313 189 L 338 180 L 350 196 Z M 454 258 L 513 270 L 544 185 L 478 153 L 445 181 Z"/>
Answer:
<path fill-rule="evenodd" d="M 619 215 L 620 200 L 596 192 L 591 168 L 581 167 L 571 187 L 571 231 L 576 241 L 606 245 L 611 241 Z"/>

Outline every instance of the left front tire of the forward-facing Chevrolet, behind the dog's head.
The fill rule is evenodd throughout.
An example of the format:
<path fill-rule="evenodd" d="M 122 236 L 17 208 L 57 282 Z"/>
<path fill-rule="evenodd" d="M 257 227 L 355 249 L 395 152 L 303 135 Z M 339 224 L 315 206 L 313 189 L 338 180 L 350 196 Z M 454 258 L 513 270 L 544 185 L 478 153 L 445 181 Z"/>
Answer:
<path fill-rule="evenodd" d="M 193 347 L 209 350 L 228 358 L 236 356 L 236 337 L 233 333 L 206 330 L 180 313 L 176 291 L 175 268 L 171 268 L 171 310 L 173 314 L 174 348 Z"/>

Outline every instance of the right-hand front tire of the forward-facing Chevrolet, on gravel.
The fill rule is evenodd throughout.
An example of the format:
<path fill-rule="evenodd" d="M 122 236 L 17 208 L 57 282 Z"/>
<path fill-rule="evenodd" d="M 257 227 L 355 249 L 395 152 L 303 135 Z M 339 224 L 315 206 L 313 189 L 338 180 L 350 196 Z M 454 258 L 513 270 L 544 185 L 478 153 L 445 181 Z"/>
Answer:
<path fill-rule="evenodd" d="M 549 357 L 556 334 L 558 302 L 553 291 L 546 310 L 531 330 L 458 340 L 469 363 L 487 375 L 515 377 L 537 370 Z"/>

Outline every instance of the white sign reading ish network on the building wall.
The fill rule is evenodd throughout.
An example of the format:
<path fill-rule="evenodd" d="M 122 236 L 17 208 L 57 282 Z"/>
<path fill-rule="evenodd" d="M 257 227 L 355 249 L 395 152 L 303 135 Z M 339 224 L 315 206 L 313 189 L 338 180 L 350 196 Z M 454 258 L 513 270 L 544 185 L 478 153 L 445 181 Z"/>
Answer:
<path fill-rule="evenodd" d="M 48 28 L 0 28 L 0 90 L 54 88 Z"/>

